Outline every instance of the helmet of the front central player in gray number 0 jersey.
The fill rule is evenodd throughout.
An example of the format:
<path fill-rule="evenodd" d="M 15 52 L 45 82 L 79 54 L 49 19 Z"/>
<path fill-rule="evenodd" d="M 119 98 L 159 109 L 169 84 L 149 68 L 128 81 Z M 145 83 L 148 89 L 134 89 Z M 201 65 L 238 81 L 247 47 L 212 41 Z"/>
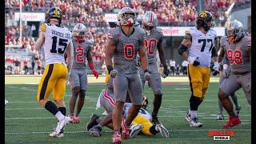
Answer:
<path fill-rule="evenodd" d="M 136 14 L 130 7 L 123 7 L 118 12 L 118 25 L 134 26 Z"/>

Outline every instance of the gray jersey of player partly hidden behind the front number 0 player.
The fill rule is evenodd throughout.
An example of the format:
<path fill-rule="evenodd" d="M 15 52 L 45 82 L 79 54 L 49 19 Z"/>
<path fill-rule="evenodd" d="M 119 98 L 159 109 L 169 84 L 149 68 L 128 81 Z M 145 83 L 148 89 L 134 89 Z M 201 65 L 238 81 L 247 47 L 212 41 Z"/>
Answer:
<path fill-rule="evenodd" d="M 153 30 L 150 31 L 149 34 L 146 34 L 144 44 L 146 47 L 149 63 L 157 62 L 156 52 L 158 50 L 158 42 L 162 42 L 162 37 L 162 29 L 158 27 L 155 27 Z"/>

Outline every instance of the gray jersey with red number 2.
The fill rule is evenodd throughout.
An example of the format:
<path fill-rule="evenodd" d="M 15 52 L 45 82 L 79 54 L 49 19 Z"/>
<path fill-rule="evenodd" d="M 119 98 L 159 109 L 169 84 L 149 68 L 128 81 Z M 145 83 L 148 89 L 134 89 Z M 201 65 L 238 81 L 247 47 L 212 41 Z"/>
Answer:
<path fill-rule="evenodd" d="M 72 68 L 75 70 L 86 70 L 86 56 L 88 50 L 91 50 L 93 43 L 90 41 L 85 41 L 82 43 L 72 40 L 74 46 L 74 62 Z"/>

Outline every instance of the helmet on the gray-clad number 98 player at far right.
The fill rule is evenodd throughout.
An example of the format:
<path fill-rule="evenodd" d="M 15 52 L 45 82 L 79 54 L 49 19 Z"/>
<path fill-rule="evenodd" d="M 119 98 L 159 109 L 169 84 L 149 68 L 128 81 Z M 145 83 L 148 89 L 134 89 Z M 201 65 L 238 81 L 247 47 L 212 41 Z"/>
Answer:
<path fill-rule="evenodd" d="M 229 38 L 229 42 L 239 42 L 245 35 L 242 22 L 239 22 L 236 19 L 231 21 L 227 26 L 226 33 L 227 37 Z"/>

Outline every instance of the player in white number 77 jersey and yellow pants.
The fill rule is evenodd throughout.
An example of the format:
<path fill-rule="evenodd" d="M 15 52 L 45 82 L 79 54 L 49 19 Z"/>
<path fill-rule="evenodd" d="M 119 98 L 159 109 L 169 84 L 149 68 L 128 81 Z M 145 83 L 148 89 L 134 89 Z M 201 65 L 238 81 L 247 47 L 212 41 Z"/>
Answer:
<path fill-rule="evenodd" d="M 186 30 L 186 35 L 179 46 L 178 53 L 189 62 L 188 76 L 190 79 L 190 110 L 186 121 L 190 126 L 202 127 L 198 122 L 198 106 L 205 97 L 210 82 L 210 62 L 214 61 L 213 69 L 218 71 L 218 54 L 214 46 L 216 32 L 213 26 L 212 14 L 208 11 L 198 13 L 196 28 Z M 215 73 L 216 74 L 216 73 Z"/>

